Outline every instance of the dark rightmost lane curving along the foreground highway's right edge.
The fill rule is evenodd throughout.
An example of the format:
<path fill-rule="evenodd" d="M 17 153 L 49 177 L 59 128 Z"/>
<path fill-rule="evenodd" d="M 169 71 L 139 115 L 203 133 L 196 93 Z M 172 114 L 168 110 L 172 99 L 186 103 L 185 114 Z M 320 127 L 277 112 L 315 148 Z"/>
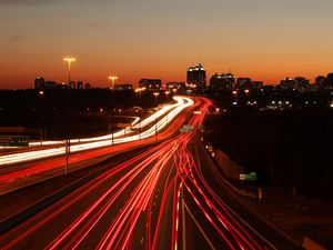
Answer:
<path fill-rule="evenodd" d="M 194 159 L 196 163 L 199 162 L 199 176 L 204 179 L 205 183 L 209 183 L 210 189 L 216 194 L 216 197 L 219 197 L 219 200 L 230 207 L 238 214 L 235 218 L 241 218 L 240 222 L 246 222 L 243 224 L 253 232 L 251 233 L 253 237 L 256 236 L 261 239 L 261 241 L 268 241 L 268 243 L 271 243 L 273 248 L 300 249 L 242 204 L 242 197 L 238 197 L 238 194 L 235 194 L 234 191 L 226 186 L 223 177 L 221 177 L 221 173 L 218 171 L 215 164 L 212 162 L 198 137 L 191 143 L 190 150 L 195 156 Z M 252 230 L 252 228 L 254 230 Z"/>

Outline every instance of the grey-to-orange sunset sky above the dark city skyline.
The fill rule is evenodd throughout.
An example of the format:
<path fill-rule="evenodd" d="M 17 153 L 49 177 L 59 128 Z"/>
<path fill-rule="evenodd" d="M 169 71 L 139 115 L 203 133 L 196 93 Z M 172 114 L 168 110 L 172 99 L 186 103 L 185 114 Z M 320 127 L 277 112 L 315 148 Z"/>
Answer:
<path fill-rule="evenodd" d="M 108 76 L 185 81 L 231 71 L 265 83 L 333 71 L 332 0 L 0 0 L 0 88 L 37 76 L 107 87 Z"/>

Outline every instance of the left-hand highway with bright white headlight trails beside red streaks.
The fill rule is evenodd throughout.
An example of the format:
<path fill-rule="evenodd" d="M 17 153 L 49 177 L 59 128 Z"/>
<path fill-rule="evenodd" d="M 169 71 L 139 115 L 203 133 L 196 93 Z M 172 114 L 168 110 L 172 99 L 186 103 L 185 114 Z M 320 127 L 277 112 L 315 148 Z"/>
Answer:
<path fill-rule="evenodd" d="M 186 119 L 183 111 L 186 109 L 190 111 L 198 106 L 193 104 L 190 98 L 174 97 L 174 99 L 175 104 L 162 107 L 133 127 L 140 127 L 141 133 L 129 133 L 124 137 L 123 131 L 120 131 L 113 134 L 114 140 L 111 140 L 112 134 L 82 139 L 81 143 L 70 148 L 68 167 L 65 167 L 65 149 L 58 144 L 51 149 L 0 156 L 0 194 L 74 171 L 85 167 L 87 162 L 95 163 L 100 159 L 171 137 Z M 74 140 L 72 142 L 74 143 Z"/>

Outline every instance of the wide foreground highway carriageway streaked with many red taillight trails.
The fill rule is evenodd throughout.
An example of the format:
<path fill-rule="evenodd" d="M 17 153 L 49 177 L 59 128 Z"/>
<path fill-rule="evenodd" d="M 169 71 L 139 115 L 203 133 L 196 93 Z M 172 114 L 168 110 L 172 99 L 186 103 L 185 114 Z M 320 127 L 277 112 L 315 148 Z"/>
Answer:
<path fill-rule="evenodd" d="M 278 249 L 203 177 L 193 139 L 211 103 L 196 102 L 193 131 L 104 171 L 0 236 L 0 249 Z"/>

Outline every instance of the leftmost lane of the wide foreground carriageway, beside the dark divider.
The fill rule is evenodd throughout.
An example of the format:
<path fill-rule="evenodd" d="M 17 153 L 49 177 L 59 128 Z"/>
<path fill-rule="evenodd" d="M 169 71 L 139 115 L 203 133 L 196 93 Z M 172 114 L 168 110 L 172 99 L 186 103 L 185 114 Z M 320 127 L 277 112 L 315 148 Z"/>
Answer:
<path fill-rule="evenodd" d="M 78 214 L 82 214 L 89 207 L 91 207 L 92 203 L 104 193 L 105 189 L 112 188 L 114 182 L 125 173 L 127 171 L 124 170 L 119 173 L 119 176 L 114 174 L 112 178 L 110 178 L 110 173 L 105 173 L 100 178 L 94 179 L 89 184 L 81 187 L 72 194 L 65 197 L 47 210 L 29 219 L 18 228 L 2 236 L 0 238 L 0 246 L 9 246 L 8 242 L 14 241 L 18 238 L 19 244 L 14 244 L 13 248 L 17 248 L 18 246 L 29 249 L 34 247 L 44 247 L 44 244 L 52 241 L 59 233 L 61 233 L 62 230 L 78 217 Z M 142 176 L 140 178 L 144 177 L 145 173 L 142 172 L 141 174 Z M 102 180 L 103 177 L 104 180 Z M 133 183 L 133 186 L 135 186 L 135 183 Z M 88 191 L 88 193 L 84 193 L 85 191 Z M 80 194 L 83 196 L 80 197 Z M 118 209 L 114 209 L 113 211 L 117 210 Z M 32 231 L 32 229 L 36 230 Z M 43 236 L 44 232 L 48 233 Z M 40 236 L 43 237 L 41 238 Z M 34 239 L 39 239 L 38 242 Z"/>

